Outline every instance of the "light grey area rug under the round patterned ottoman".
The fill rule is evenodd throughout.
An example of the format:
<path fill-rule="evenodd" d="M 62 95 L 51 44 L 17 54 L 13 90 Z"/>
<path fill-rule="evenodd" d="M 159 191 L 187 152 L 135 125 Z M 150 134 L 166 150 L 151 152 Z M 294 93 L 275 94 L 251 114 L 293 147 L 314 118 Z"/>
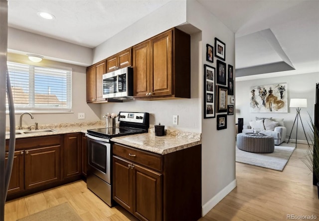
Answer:
<path fill-rule="evenodd" d="M 260 154 L 242 151 L 236 146 L 236 162 L 283 171 L 294 150 L 295 147 L 280 145 L 275 146 L 273 153 Z"/>

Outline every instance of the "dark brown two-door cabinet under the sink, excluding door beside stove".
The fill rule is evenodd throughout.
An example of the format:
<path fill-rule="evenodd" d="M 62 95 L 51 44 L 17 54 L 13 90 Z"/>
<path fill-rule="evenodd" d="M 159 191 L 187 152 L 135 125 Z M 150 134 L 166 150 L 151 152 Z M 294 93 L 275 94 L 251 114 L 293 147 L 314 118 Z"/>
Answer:
<path fill-rule="evenodd" d="M 18 138 L 7 200 L 34 193 L 61 182 L 61 143 L 63 136 Z M 8 151 L 9 140 L 6 140 Z"/>

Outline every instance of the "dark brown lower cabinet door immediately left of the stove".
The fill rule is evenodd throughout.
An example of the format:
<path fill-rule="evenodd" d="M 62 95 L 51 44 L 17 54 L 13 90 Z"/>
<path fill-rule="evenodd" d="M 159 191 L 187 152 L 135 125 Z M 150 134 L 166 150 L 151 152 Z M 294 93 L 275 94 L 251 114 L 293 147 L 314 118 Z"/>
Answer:
<path fill-rule="evenodd" d="M 64 135 L 63 178 L 81 175 L 82 171 L 82 135 L 80 133 Z"/>

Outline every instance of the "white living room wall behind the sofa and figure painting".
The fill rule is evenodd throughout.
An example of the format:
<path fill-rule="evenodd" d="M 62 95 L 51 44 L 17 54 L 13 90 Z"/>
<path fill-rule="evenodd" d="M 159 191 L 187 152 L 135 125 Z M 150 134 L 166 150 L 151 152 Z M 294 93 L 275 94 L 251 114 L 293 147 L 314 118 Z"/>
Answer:
<path fill-rule="evenodd" d="M 309 115 L 314 116 L 315 98 L 316 98 L 316 83 L 319 82 L 319 73 L 299 74 L 284 77 L 272 77 L 256 80 L 236 81 L 236 120 L 237 118 L 244 118 L 244 124 L 249 124 L 249 121 L 255 120 L 255 117 L 274 117 L 284 118 L 285 126 L 287 127 L 287 136 L 293 127 L 293 123 L 296 117 L 296 108 L 289 108 L 288 113 L 250 113 L 250 87 L 259 85 L 269 85 L 276 83 L 287 83 L 288 91 L 288 105 L 291 98 L 307 98 L 308 107 L 302 108 L 300 115 L 305 127 L 306 135 L 309 139 Z M 295 124 L 291 139 L 296 140 L 296 128 Z M 301 123 L 298 125 L 298 138 L 299 141 L 306 141 L 306 137 Z M 298 141 L 297 141 L 298 142 Z M 307 142 L 307 141 L 306 141 Z"/>

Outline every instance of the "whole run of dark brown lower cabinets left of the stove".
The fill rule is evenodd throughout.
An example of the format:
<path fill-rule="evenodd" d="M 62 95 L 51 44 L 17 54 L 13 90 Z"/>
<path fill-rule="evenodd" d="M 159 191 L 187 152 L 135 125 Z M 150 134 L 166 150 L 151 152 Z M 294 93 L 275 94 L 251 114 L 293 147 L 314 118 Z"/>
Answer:
<path fill-rule="evenodd" d="M 16 139 L 7 199 L 81 179 L 82 148 L 82 133 Z"/>

